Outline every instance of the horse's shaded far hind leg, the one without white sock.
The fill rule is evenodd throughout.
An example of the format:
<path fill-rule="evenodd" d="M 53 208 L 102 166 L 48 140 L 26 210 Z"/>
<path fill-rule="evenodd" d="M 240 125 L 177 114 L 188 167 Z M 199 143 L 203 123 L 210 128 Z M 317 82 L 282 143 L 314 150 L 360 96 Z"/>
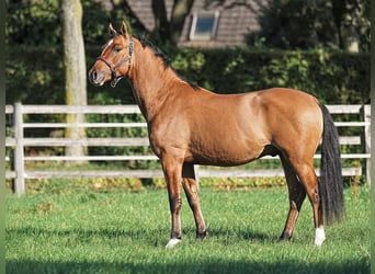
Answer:
<path fill-rule="evenodd" d="M 306 191 L 304 185 L 299 182 L 296 172 L 294 171 L 291 163 L 283 157 L 280 156 L 287 183 L 287 189 L 289 193 L 289 213 L 285 221 L 285 227 L 280 240 L 289 240 L 293 236 L 293 231 L 299 215 L 300 207 L 306 197 Z"/>

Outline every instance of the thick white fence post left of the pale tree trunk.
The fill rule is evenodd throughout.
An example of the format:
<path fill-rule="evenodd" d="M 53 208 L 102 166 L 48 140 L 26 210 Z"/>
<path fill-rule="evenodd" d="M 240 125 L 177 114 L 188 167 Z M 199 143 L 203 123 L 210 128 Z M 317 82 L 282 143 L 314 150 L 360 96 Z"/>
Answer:
<path fill-rule="evenodd" d="M 23 148 L 23 110 L 21 103 L 14 104 L 13 112 L 13 128 L 14 128 L 14 185 L 13 191 L 18 196 L 21 196 L 25 192 L 25 179 L 24 179 L 24 148 Z"/>

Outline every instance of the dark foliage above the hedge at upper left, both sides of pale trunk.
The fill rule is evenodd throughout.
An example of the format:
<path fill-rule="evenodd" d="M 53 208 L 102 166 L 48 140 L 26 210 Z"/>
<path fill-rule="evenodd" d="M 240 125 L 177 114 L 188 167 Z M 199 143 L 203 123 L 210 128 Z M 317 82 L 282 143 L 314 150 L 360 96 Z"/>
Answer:
<path fill-rule="evenodd" d="M 107 24 L 123 21 L 128 13 L 107 11 L 100 1 L 81 0 L 81 4 L 82 32 L 88 44 L 104 43 Z M 7 11 L 5 44 L 52 47 L 63 44 L 59 0 L 7 1 Z"/>

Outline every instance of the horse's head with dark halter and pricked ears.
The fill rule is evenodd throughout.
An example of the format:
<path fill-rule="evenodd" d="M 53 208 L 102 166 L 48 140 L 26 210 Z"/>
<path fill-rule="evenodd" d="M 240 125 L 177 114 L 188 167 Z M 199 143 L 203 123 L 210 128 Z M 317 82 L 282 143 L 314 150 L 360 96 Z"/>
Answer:
<path fill-rule="evenodd" d="M 102 47 L 102 54 L 89 71 L 90 82 L 94 85 L 103 85 L 111 81 L 115 87 L 117 82 L 128 75 L 132 67 L 133 39 L 123 22 L 121 32 L 117 33 L 112 24 L 109 26 L 111 39 Z"/>

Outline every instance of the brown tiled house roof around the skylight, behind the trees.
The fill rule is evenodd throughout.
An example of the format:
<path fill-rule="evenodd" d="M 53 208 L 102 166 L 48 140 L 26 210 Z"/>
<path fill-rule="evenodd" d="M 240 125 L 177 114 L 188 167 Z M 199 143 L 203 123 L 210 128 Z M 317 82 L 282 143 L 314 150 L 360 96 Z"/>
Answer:
<path fill-rule="evenodd" d="M 170 16 L 173 0 L 166 1 L 167 14 Z M 103 1 L 105 2 L 105 1 Z M 155 27 L 151 0 L 127 0 L 128 5 L 148 31 Z M 258 15 L 266 0 L 196 0 L 186 18 L 180 37 L 180 46 L 225 47 L 241 45 L 246 36 L 260 28 Z M 215 33 L 211 39 L 198 41 L 191 36 L 193 18 L 200 14 L 217 14 Z"/>

